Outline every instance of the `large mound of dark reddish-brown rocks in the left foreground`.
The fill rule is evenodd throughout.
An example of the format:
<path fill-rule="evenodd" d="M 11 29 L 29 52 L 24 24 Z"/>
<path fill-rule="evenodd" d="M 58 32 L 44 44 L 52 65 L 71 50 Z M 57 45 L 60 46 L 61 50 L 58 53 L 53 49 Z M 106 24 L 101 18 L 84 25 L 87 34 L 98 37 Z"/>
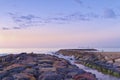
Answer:
<path fill-rule="evenodd" d="M 0 57 L 0 80 L 97 80 L 63 58 L 21 53 Z"/>

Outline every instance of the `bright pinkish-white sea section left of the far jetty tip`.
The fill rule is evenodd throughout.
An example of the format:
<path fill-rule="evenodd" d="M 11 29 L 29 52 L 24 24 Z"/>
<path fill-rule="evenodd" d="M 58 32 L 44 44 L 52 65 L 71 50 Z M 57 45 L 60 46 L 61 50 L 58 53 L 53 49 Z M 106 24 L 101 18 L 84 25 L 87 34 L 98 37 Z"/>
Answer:
<path fill-rule="evenodd" d="M 2 54 L 18 54 L 22 52 L 27 53 L 49 53 L 58 51 L 61 48 L 0 48 L 0 55 Z"/>

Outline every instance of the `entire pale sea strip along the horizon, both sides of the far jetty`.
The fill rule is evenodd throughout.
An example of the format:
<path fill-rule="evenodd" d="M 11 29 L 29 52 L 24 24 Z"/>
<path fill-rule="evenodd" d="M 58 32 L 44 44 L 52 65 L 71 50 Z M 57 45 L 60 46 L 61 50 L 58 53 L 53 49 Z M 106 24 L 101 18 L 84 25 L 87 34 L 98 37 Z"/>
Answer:
<path fill-rule="evenodd" d="M 27 53 L 50 53 L 56 52 L 60 49 L 81 49 L 81 48 L 0 48 L 0 54 L 18 54 L 22 52 Z M 95 48 L 100 52 L 120 52 L 120 48 Z"/>

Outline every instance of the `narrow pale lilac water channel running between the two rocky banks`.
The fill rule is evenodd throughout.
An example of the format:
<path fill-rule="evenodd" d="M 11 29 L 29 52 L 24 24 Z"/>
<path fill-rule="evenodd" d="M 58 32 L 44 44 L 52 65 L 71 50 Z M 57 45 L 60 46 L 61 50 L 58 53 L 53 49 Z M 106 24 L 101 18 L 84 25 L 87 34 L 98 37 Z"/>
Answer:
<path fill-rule="evenodd" d="M 101 72 L 98 72 L 97 70 L 90 69 L 90 68 L 85 67 L 85 66 L 83 66 L 81 64 L 74 63 L 75 60 L 74 60 L 73 56 L 69 57 L 69 56 L 63 56 L 61 54 L 60 55 L 56 55 L 56 56 L 58 56 L 60 58 L 64 58 L 64 59 L 70 61 L 72 64 L 78 66 L 80 69 L 83 69 L 83 70 L 85 70 L 87 72 L 91 72 L 91 73 L 95 74 L 96 78 L 98 78 L 98 80 L 120 80 L 119 78 L 116 78 L 116 77 L 113 77 L 113 76 L 109 76 L 109 75 L 105 75 L 105 74 L 102 74 Z"/>

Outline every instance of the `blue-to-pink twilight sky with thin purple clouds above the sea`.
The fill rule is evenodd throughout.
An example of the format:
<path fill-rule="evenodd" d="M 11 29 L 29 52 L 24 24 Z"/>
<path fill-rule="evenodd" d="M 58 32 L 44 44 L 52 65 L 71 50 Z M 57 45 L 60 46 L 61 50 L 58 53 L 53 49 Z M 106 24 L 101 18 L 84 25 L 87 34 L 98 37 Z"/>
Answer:
<path fill-rule="evenodd" d="M 0 48 L 120 45 L 120 0 L 0 0 Z"/>

